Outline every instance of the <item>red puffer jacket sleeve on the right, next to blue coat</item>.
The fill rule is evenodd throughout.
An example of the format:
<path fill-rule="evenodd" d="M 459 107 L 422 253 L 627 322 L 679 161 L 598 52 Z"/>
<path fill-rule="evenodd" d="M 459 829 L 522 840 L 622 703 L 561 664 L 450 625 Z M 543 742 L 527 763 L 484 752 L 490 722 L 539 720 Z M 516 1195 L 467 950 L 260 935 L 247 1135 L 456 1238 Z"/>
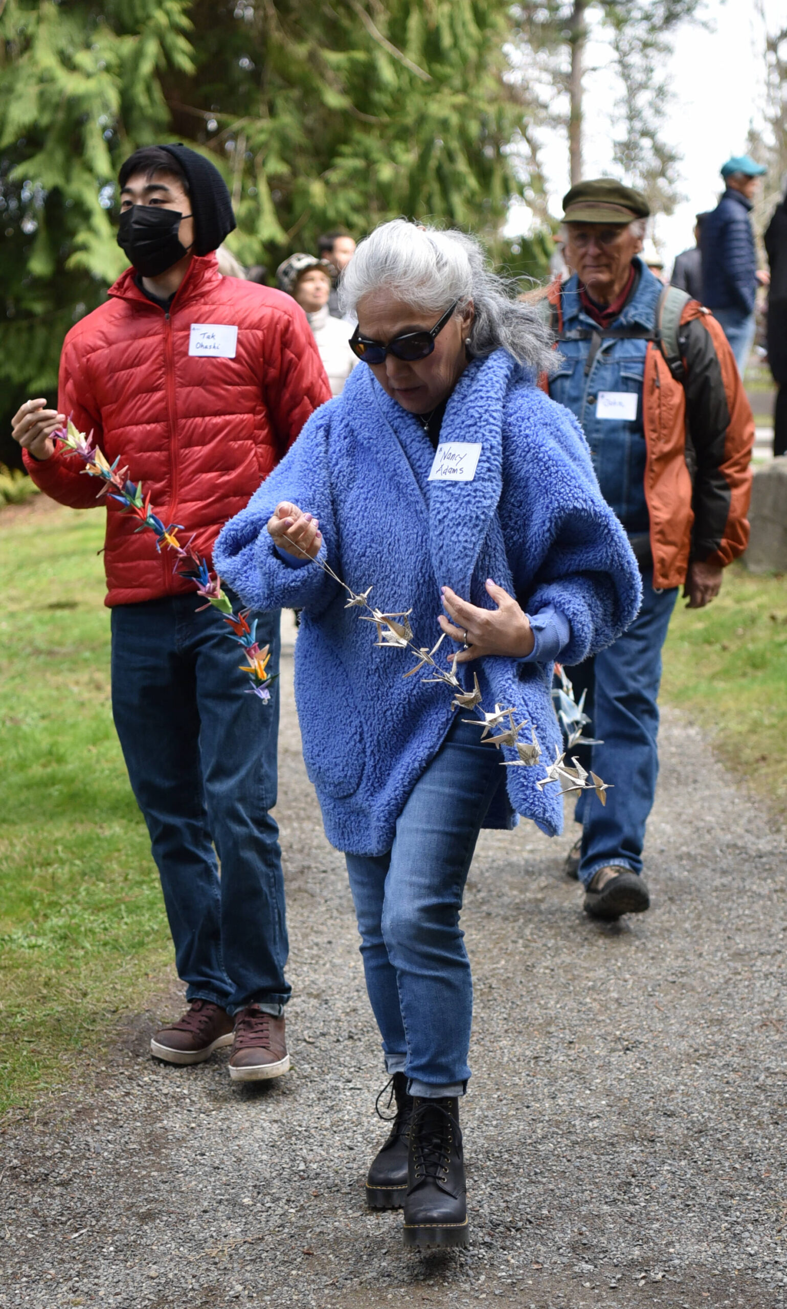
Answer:
<path fill-rule="evenodd" d="M 309 319 L 295 300 L 288 313 L 276 315 L 275 332 L 266 351 L 263 398 L 274 424 L 276 453 L 283 458 L 306 419 L 330 401 L 331 389 Z"/>

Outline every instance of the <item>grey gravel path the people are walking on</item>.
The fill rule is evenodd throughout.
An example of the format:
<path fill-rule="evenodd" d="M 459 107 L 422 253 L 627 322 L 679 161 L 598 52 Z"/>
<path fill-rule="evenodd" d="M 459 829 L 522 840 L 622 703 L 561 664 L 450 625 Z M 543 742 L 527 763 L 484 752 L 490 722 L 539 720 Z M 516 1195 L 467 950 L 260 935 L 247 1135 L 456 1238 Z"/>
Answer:
<path fill-rule="evenodd" d="M 585 920 L 571 830 L 482 836 L 464 919 L 473 1244 L 405 1253 L 401 1216 L 364 1208 L 385 1079 L 283 670 L 293 1071 L 238 1088 L 227 1052 L 152 1063 L 177 991 L 130 1016 L 82 1089 L 0 1134 L 0 1305 L 786 1305 L 783 836 L 724 775 L 706 789 L 701 734 L 674 715 L 642 919 Z"/>

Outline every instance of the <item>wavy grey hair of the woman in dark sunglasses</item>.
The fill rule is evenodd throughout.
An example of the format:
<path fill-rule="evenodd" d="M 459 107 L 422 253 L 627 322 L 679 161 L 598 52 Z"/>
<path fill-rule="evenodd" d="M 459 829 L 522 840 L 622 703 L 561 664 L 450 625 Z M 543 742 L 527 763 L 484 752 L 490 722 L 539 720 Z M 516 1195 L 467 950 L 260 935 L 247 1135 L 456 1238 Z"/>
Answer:
<path fill-rule="evenodd" d="M 384 288 L 436 315 L 452 300 L 461 314 L 471 300 L 475 318 L 470 329 L 470 352 L 491 355 L 507 350 L 536 373 L 551 373 L 557 355 L 549 317 L 533 304 L 515 296 L 521 291 L 516 278 L 500 278 L 488 266 L 474 237 L 454 229 L 420 226 L 394 219 L 375 228 L 361 241 L 342 274 L 339 302 L 342 313 L 354 314 L 359 302 Z"/>

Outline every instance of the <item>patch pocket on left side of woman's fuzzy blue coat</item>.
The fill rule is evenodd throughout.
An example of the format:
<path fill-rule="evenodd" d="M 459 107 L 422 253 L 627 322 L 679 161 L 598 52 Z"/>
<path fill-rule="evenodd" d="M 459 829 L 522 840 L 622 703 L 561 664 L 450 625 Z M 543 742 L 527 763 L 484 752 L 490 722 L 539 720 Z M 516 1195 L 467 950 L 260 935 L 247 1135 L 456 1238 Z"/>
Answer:
<path fill-rule="evenodd" d="M 305 614 L 297 641 L 295 695 L 309 781 L 318 796 L 343 800 L 357 791 L 365 766 L 359 696 L 338 651 Z"/>

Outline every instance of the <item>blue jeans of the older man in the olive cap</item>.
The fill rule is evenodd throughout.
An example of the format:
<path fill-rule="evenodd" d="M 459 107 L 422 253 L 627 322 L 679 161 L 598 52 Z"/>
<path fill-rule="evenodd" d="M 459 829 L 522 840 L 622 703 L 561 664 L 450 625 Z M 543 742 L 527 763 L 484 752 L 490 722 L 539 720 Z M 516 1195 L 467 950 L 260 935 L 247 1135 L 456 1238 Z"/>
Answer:
<path fill-rule="evenodd" d="M 606 806 L 583 791 L 575 818 L 581 823 L 579 878 L 587 886 L 608 864 L 642 873 L 646 822 L 653 808 L 659 776 L 659 685 L 661 647 L 677 598 L 677 588 L 653 590 L 653 573 L 643 579 L 642 609 L 631 627 L 608 649 L 567 669 L 579 700 L 587 689 L 585 730 L 602 745 L 572 750 L 610 789 Z"/>

